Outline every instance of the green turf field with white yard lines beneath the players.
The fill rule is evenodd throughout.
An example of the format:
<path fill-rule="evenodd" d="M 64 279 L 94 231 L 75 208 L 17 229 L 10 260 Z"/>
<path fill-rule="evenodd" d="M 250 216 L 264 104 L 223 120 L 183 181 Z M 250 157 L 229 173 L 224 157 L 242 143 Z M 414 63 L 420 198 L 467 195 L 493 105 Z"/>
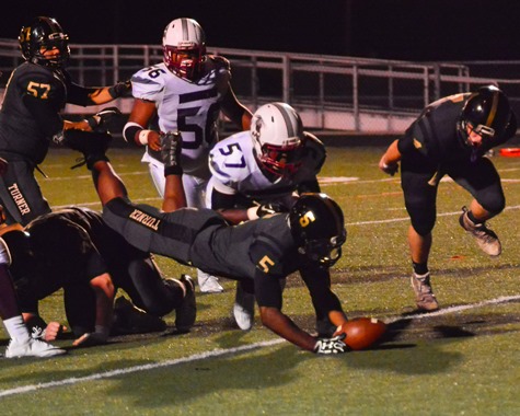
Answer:
<path fill-rule="evenodd" d="M 383 148 L 330 148 L 323 192 L 343 207 L 348 238 L 333 288 L 350 317 L 389 323 L 374 349 L 338 357 L 301 351 L 262 327 L 249 333 L 230 317 L 234 282 L 198 296 L 189 334 L 120 336 L 102 347 L 69 349 L 61 358 L 0 359 L 2 415 L 518 415 L 520 414 L 520 289 L 518 213 L 520 159 L 495 157 L 508 208 L 490 224 L 504 253 L 487 258 L 460 228 L 469 195 L 446 181 L 430 259 L 441 310 L 414 312 L 408 284 L 408 220 L 398 178 L 378 167 Z M 78 154 L 53 149 L 41 177 L 54 207 L 101 208 Z M 130 197 L 160 206 L 140 152 L 109 157 Z M 194 273 L 158 258 L 166 275 Z M 65 322 L 61 293 L 42 302 L 47 320 Z M 290 276 L 284 311 L 313 330 L 310 298 Z M 173 316 L 166 316 L 173 325 Z M 0 333 L 3 350 L 8 339 Z"/>

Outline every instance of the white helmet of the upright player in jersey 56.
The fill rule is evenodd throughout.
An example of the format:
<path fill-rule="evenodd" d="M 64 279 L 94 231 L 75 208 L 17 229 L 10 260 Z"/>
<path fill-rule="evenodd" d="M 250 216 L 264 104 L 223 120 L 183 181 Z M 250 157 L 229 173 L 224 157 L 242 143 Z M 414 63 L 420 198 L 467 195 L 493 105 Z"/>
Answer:
<path fill-rule="evenodd" d="M 193 19 L 175 19 L 164 28 L 162 37 L 164 65 L 188 81 L 197 80 L 206 60 L 206 35 Z"/>

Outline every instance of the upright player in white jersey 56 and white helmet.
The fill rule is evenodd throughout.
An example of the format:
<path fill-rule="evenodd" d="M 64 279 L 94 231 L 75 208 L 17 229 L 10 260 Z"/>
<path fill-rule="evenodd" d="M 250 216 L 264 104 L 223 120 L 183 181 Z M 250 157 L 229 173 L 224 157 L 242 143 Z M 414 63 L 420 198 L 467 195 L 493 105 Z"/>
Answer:
<path fill-rule="evenodd" d="M 249 129 L 251 112 L 239 103 L 231 88 L 231 69 L 226 58 L 206 54 L 206 38 L 192 19 L 175 19 L 162 39 L 164 61 L 143 68 L 131 78 L 134 107 L 124 128 L 130 143 L 147 146 L 153 184 L 164 196 L 164 166 L 160 157 L 160 131 L 183 135 L 184 189 L 188 207 L 205 207 L 208 151 L 218 141 L 218 118 L 222 112 L 240 129 Z M 215 276 L 197 270 L 201 292 L 221 292 Z"/>

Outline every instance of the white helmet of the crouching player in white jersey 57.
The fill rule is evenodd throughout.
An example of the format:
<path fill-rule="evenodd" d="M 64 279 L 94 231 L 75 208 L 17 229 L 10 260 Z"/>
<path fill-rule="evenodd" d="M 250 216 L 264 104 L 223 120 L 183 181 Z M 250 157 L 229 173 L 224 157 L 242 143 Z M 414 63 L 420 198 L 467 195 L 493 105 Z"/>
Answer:
<path fill-rule="evenodd" d="M 303 125 L 289 104 L 261 106 L 251 120 L 253 152 L 264 172 L 274 181 L 293 175 L 301 165 Z"/>

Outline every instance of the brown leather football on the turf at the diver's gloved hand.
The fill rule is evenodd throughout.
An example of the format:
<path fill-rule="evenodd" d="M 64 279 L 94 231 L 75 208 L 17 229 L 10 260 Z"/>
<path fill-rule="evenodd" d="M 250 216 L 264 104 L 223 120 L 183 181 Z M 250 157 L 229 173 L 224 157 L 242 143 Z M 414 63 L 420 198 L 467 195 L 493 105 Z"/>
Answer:
<path fill-rule="evenodd" d="M 351 349 L 366 349 L 373 345 L 386 331 L 384 322 L 375 317 L 356 317 L 338 326 L 334 335 L 345 333 L 343 340 Z"/>

